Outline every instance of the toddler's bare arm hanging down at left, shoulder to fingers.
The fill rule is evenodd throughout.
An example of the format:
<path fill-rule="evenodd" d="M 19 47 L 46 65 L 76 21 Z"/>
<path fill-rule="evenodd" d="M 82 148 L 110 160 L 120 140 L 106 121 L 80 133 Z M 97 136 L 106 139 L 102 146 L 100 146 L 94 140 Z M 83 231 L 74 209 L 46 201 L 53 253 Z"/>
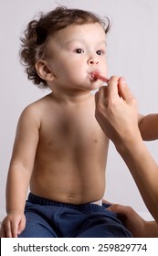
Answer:
<path fill-rule="evenodd" d="M 27 107 L 16 130 L 16 140 L 6 184 L 6 212 L 3 230 L 6 237 L 17 237 L 25 229 L 26 192 L 32 173 L 38 142 L 37 112 Z"/>

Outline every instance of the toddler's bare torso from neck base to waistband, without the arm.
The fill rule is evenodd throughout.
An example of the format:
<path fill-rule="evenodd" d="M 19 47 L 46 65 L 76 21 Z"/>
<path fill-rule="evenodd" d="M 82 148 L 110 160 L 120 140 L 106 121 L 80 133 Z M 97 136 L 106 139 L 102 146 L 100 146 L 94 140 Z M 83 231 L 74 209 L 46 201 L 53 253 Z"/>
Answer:
<path fill-rule="evenodd" d="M 94 118 L 94 97 L 78 103 L 52 98 L 49 94 L 35 103 L 41 128 L 31 191 L 71 204 L 99 200 L 104 193 L 108 140 Z"/>

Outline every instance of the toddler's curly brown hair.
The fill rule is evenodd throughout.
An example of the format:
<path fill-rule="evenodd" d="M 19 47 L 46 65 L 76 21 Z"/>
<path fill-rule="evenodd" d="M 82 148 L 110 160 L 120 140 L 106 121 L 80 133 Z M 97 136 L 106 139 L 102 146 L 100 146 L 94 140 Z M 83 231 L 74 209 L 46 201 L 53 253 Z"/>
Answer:
<path fill-rule="evenodd" d="M 49 37 L 72 24 L 82 25 L 96 22 L 100 23 L 107 34 L 110 29 L 108 17 L 105 22 L 89 11 L 68 9 L 65 6 L 59 6 L 47 14 L 41 14 L 38 20 L 30 21 L 24 32 L 24 37 L 20 38 L 22 42 L 20 59 L 26 67 L 28 80 L 33 80 L 38 87 L 47 88 L 47 81 L 38 76 L 35 65 L 39 59 L 45 59 Z"/>

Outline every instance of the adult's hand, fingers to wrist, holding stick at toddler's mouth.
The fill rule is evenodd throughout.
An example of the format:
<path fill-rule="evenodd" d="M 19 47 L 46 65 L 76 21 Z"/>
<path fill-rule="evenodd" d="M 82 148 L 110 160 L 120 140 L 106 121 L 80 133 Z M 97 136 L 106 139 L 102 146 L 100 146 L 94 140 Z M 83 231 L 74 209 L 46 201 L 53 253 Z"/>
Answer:
<path fill-rule="evenodd" d="M 138 133 L 138 106 L 126 82 L 111 77 L 108 86 L 95 94 L 95 116 L 103 132 L 117 146 L 120 141 L 132 139 Z"/>

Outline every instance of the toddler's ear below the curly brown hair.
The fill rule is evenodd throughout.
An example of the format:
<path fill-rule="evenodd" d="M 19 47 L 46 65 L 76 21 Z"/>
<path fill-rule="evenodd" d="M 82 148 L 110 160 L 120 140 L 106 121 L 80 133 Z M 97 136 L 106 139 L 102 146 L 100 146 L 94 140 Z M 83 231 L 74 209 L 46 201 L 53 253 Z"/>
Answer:
<path fill-rule="evenodd" d="M 36 63 L 36 69 L 38 76 L 43 80 L 54 80 L 54 74 L 49 68 L 47 60 L 40 59 Z"/>

